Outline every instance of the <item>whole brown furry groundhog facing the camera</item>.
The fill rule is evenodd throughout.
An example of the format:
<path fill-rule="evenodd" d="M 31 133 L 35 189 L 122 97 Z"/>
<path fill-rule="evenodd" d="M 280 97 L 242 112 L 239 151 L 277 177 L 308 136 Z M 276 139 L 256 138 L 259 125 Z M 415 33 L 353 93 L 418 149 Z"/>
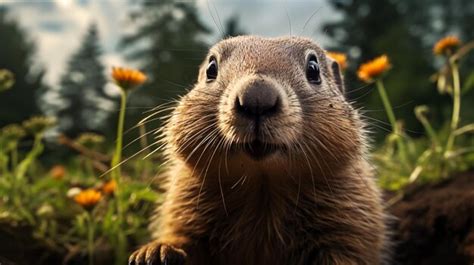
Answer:
<path fill-rule="evenodd" d="M 364 123 L 301 37 L 212 47 L 163 130 L 168 190 L 129 264 L 382 264 Z"/>

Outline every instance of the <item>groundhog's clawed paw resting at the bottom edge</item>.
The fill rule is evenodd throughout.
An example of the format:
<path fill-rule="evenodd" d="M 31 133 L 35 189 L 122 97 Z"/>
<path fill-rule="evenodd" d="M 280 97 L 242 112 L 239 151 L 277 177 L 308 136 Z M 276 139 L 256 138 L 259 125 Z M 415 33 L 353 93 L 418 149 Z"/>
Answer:
<path fill-rule="evenodd" d="M 128 259 L 129 265 L 184 265 L 186 253 L 170 245 L 149 243 L 135 251 Z"/>

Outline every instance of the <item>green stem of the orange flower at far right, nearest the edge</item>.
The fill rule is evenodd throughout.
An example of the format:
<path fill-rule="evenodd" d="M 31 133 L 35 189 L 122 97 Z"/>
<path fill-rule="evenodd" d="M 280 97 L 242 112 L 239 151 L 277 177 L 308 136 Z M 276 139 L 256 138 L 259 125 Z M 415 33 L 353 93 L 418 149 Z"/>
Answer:
<path fill-rule="evenodd" d="M 457 63 L 450 59 L 449 64 L 451 67 L 452 75 L 453 75 L 453 114 L 451 117 L 451 126 L 449 130 L 448 141 L 446 143 L 445 149 L 445 157 L 448 155 L 448 152 L 451 151 L 454 145 L 454 139 L 456 134 L 454 131 L 458 128 L 459 124 L 459 113 L 461 111 L 461 82 L 459 78 L 459 69 Z"/>

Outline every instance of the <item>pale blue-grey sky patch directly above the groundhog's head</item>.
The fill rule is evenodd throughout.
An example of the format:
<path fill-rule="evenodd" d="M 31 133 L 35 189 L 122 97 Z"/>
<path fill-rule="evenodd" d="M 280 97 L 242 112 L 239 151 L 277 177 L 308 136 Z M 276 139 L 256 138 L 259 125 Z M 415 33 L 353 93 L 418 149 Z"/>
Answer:
<path fill-rule="evenodd" d="M 237 15 L 240 26 L 249 34 L 307 36 L 327 44 L 327 36 L 318 29 L 323 22 L 339 18 L 331 6 L 321 0 L 198 0 L 197 5 L 202 20 L 216 36 L 222 35 L 220 28 L 225 21 Z"/>

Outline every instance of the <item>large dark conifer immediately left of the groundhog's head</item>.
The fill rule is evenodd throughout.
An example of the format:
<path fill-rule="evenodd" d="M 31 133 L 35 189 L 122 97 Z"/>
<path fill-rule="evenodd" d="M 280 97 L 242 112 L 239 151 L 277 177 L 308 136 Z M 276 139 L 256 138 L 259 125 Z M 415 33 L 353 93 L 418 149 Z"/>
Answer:
<path fill-rule="evenodd" d="M 208 47 L 202 37 L 209 30 L 199 21 L 194 1 L 143 1 L 142 5 L 139 21 L 135 20 L 141 26 L 124 37 L 122 46 L 150 77 L 137 92 L 149 99 L 147 105 L 154 105 L 176 98 L 196 80 Z"/>

